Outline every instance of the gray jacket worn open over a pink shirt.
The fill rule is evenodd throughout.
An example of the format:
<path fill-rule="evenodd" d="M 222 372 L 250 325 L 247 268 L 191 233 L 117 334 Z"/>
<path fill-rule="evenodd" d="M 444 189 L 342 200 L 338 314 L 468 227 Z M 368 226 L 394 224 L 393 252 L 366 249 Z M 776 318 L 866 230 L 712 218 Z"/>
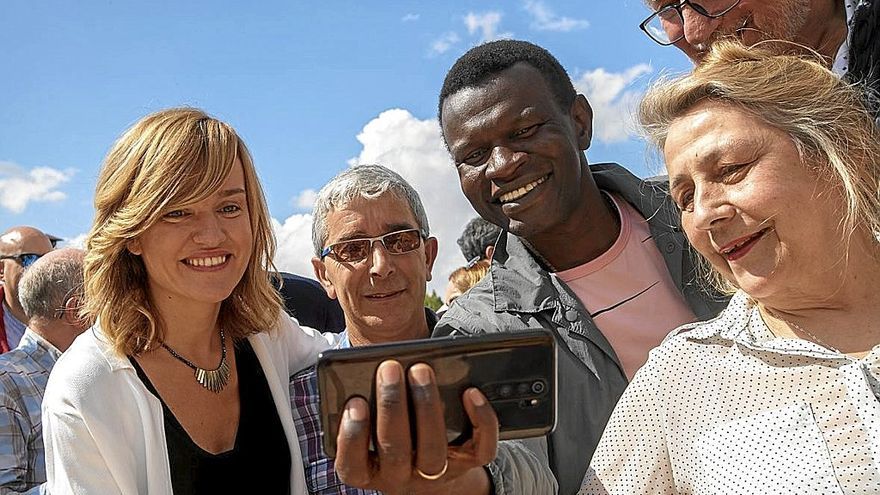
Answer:
<path fill-rule="evenodd" d="M 666 194 L 665 181 L 643 181 L 616 164 L 590 169 L 599 189 L 620 195 L 648 220 L 672 280 L 694 314 L 700 319 L 717 315 L 727 301 L 709 296 L 696 281 L 696 255 L 678 228 L 678 211 Z M 549 466 L 559 483 L 559 493 L 576 493 L 611 410 L 627 385 L 614 349 L 577 296 L 542 268 L 519 238 L 502 233 L 489 275 L 456 300 L 434 335 L 535 327 L 554 330 L 560 344 L 556 429 L 544 445 L 534 440 L 520 444 L 532 447 L 530 459 L 510 459 L 512 448 L 500 448 L 494 469 L 502 478 L 521 484 L 532 476 L 545 478 Z M 505 491 L 497 493 L 512 493 L 506 489 L 513 483 L 505 480 L 503 484 Z"/>

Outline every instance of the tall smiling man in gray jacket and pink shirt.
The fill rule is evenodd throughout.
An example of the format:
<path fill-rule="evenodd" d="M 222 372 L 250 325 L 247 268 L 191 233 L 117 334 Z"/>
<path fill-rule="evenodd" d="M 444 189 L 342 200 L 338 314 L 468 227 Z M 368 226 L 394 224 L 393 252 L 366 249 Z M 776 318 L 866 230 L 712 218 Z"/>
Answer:
<path fill-rule="evenodd" d="M 523 41 L 477 46 L 446 76 L 440 124 L 461 188 L 501 227 L 489 276 L 434 335 L 543 327 L 559 341 L 559 410 L 537 463 L 495 470 L 506 487 L 549 467 L 574 493 L 618 397 L 673 328 L 713 317 L 665 183 L 589 166 L 592 110 L 559 62 Z M 509 467 L 520 468 L 511 473 Z M 512 479 L 503 479 L 510 476 Z M 515 478 L 515 480 L 514 480 Z"/>

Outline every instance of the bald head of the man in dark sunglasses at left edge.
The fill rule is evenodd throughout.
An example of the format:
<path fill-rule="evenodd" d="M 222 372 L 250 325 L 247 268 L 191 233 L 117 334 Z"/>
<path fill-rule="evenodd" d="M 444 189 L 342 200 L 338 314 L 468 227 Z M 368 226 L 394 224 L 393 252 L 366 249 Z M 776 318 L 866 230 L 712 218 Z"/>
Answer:
<path fill-rule="evenodd" d="M 18 285 L 26 271 L 21 255 L 42 256 L 52 250 L 49 236 L 26 225 L 13 227 L 0 234 L 0 278 L 6 306 L 20 321 L 26 322 L 24 310 L 18 302 Z"/>

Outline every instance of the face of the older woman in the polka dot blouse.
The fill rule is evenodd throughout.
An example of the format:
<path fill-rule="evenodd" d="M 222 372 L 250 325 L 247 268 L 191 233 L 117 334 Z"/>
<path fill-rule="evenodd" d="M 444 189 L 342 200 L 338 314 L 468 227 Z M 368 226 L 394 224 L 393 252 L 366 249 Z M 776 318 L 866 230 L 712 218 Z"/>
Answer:
<path fill-rule="evenodd" d="M 844 200 L 788 134 L 704 102 L 673 121 L 663 151 L 688 239 L 746 293 L 798 297 L 840 272 Z"/>

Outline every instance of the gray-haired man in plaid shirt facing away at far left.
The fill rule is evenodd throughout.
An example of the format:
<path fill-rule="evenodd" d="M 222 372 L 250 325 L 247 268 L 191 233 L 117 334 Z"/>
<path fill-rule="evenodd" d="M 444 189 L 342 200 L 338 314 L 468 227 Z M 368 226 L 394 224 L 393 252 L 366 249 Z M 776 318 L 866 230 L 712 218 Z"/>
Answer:
<path fill-rule="evenodd" d="M 28 328 L 18 347 L 0 356 L 0 493 L 45 493 L 40 404 L 55 361 L 88 326 L 79 314 L 82 274 L 83 252 L 63 248 L 21 277 Z"/>

